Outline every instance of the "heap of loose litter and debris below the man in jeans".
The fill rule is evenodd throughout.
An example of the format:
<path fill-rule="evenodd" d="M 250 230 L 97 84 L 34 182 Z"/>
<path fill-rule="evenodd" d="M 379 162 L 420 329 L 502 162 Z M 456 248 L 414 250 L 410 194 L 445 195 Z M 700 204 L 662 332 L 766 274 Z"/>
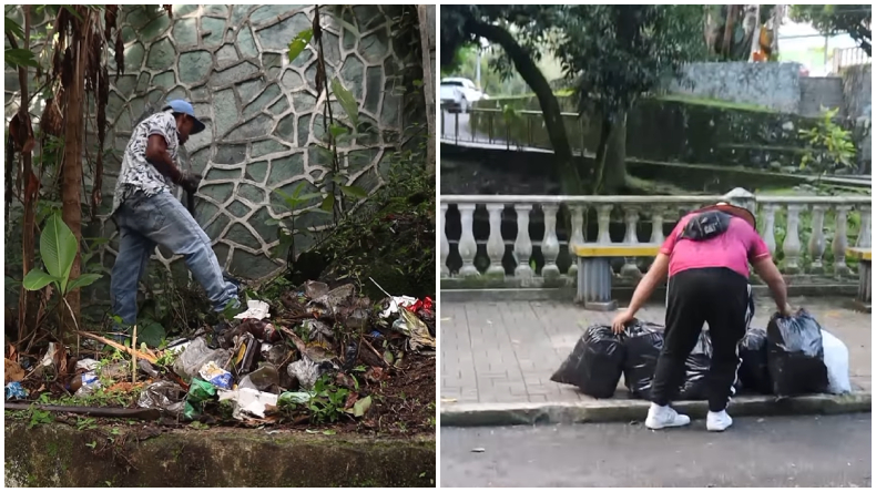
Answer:
<path fill-rule="evenodd" d="M 41 381 L 52 372 L 75 398 L 99 389 L 136 389 L 139 409 L 177 421 L 224 410 L 241 421 L 277 421 L 283 409 L 306 414 L 312 402 L 332 398 L 325 388 L 342 389 L 344 401 L 333 402 L 338 411 L 361 417 L 370 406 L 369 386 L 390 380 L 405 357 L 435 356 L 429 298 L 389 296 L 375 306 L 353 285 L 329 289 L 308 281 L 286 293 L 281 304 L 275 310 L 248 300 L 248 309 L 233 320 L 161 350 L 137 347 L 135 330 L 131 344 L 81 332 L 130 360 L 118 353 L 115 361 L 77 360 L 58 344 L 50 344 L 35 365 L 8 355 L 7 402 L 48 390 Z"/>

